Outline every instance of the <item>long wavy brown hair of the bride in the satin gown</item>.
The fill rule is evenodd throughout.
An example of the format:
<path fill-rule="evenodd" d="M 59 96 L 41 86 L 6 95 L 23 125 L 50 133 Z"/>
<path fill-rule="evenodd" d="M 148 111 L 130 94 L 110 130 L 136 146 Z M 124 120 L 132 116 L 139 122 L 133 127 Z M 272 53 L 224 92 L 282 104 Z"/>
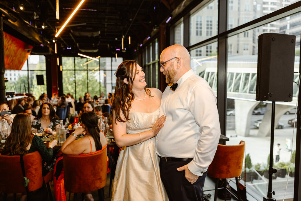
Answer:
<path fill-rule="evenodd" d="M 116 120 L 119 122 L 125 122 L 129 120 L 129 110 L 131 109 L 131 103 L 135 96 L 132 91 L 133 80 L 136 77 L 137 61 L 126 60 L 123 61 L 117 68 L 116 71 L 116 86 L 112 102 L 112 110 L 115 111 Z M 124 83 L 124 78 L 127 79 L 128 84 Z M 145 92 L 148 96 L 151 96 L 151 91 L 144 87 Z M 120 112 L 123 113 L 126 119 L 122 119 Z"/>

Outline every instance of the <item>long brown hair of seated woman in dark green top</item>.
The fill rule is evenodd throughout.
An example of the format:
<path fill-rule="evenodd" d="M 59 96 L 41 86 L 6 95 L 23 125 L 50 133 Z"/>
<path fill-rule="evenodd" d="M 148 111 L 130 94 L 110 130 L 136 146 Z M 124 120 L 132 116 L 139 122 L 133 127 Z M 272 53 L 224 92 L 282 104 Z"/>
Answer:
<path fill-rule="evenodd" d="M 19 113 L 14 117 L 11 125 L 11 134 L 5 141 L 5 155 L 26 155 L 27 146 L 33 140 L 30 116 L 27 113 Z"/>

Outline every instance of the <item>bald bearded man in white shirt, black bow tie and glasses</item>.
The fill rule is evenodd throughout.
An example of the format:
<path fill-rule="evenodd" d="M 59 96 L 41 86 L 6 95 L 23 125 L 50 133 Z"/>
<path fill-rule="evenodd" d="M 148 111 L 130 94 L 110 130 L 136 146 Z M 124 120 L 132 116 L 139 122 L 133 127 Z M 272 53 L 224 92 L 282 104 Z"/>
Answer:
<path fill-rule="evenodd" d="M 202 200 L 207 169 L 220 137 L 216 96 L 190 67 L 189 52 L 181 45 L 164 49 L 160 71 L 166 77 L 160 115 L 164 127 L 156 137 L 160 174 L 169 200 Z"/>

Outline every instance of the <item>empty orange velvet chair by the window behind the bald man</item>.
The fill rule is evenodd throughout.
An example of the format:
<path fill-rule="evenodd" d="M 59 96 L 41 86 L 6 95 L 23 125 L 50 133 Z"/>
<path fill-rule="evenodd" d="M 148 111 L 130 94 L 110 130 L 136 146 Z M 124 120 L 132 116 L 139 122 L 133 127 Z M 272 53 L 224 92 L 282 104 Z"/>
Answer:
<path fill-rule="evenodd" d="M 234 178 L 237 187 L 237 199 L 240 200 L 240 190 L 238 186 L 238 178 L 241 175 L 244 161 L 245 142 L 240 141 L 238 145 L 221 145 L 217 146 L 212 163 L 209 165 L 207 176 L 216 178 L 214 201 L 217 198 L 217 190 L 225 189 L 225 195 L 228 188 L 225 186 L 218 188 L 219 179 Z M 208 191 L 208 190 L 206 190 Z M 229 191 L 229 190 L 228 190 Z M 229 191 L 234 195 L 231 191 Z M 235 195 L 234 195 L 235 196 Z M 226 196 L 225 196 L 226 197 Z M 236 197 L 236 196 L 235 196 Z M 225 198 L 226 200 L 226 198 Z"/>

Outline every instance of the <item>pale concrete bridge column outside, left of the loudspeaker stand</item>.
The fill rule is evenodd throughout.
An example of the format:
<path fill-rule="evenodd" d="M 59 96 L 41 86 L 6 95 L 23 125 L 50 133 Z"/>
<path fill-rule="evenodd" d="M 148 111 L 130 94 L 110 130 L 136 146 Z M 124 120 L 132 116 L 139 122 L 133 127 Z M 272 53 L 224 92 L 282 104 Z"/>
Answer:
<path fill-rule="evenodd" d="M 259 104 L 256 101 L 234 100 L 235 104 L 235 132 L 237 135 L 247 137 L 250 135 L 250 122 L 252 111 Z"/>

